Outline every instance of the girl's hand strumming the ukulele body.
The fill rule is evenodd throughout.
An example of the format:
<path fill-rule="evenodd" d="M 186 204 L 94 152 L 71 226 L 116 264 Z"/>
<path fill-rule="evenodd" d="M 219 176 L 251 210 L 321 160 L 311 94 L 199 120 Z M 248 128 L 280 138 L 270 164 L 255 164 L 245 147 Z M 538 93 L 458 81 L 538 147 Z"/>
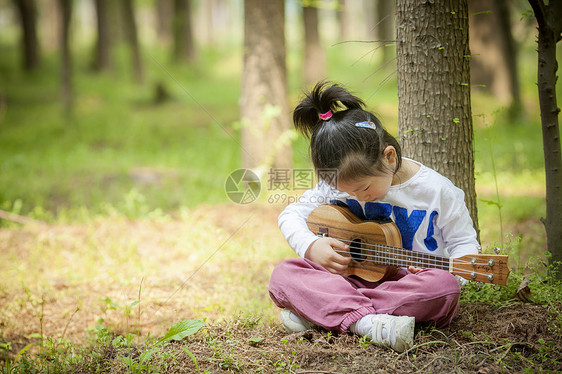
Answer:
<path fill-rule="evenodd" d="M 336 251 L 348 249 L 349 246 L 339 240 L 320 238 L 310 245 L 304 257 L 331 273 L 342 274 L 351 262 L 351 257 L 342 256 Z"/>

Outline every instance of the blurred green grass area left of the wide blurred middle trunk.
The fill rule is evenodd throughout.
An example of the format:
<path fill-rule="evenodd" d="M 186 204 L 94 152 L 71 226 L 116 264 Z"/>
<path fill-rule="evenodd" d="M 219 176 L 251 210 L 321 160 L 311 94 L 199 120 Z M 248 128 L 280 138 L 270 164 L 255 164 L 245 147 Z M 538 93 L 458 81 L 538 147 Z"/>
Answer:
<path fill-rule="evenodd" d="M 154 106 L 151 85 L 135 87 L 123 79 L 116 85 L 113 76 L 82 74 L 76 79 L 76 110 L 65 123 L 57 101 L 39 98 L 56 98 L 54 81 L 41 86 L 46 92 L 35 93 L 40 104 L 34 110 L 28 92 L 36 83 L 26 82 L 22 91 L 10 88 L 0 156 L 5 209 L 19 199 L 24 214 L 38 207 L 56 214 L 77 206 L 97 214 L 106 204 L 128 209 L 123 200 L 131 194 L 148 196 L 151 209 L 167 211 L 224 201 L 225 171 L 236 167 L 239 154 L 227 133 L 238 116 L 234 105 L 209 118 L 200 106 L 210 105 L 202 99 L 199 105 L 188 102 L 179 86 L 170 87 L 175 100 Z M 210 85 L 201 76 L 196 84 L 182 87 L 203 95 L 203 87 Z M 208 139 L 220 149 L 220 157 L 208 157 Z"/>

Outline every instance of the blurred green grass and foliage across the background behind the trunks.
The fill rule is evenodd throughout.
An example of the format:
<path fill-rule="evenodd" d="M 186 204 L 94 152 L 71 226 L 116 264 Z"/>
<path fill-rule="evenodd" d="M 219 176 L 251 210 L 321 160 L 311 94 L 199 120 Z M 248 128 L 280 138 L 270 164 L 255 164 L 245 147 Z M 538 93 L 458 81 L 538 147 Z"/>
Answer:
<path fill-rule="evenodd" d="M 303 88 L 302 39 L 298 30 L 287 33 L 294 105 Z M 41 68 L 24 73 L 16 34 L 0 37 L 1 209 L 44 220 L 87 219 L 115 210 L 135 217 L 229 201 L 224 181 L 241 165 L 239 131 L 233 126 L 240 120 L 240 44 L 201 46 L 197 61 L 184 65 L 170 63 L 167 46 L 144 45 L 147 79 L 136 85 L 125 46 L 116 44 L 111 72 L 95 74 L 89 68 L 90 43 L 75 43 L 75 106 L 71 118 L 64 118 L 57 54 L 45 52 Z M 502 104 L 479 87 L 472 95 L 486 238 L 500 231 L 498 207 L 511 227 L 537 222 L 545 210 L 536 47 L 529 36 L 520 42 L 520 117 L 509 119 Z M 329 78 L 364 98 L 397 135 L 395 67 L 381 66 L 377 47 L 361 40 L 327 44 Z M 169 97 L 161 104 L 155 103 L 158 89 Z M 310 167 L 306 140 L 299 137 L 294 150 L 295 167 Z"/>

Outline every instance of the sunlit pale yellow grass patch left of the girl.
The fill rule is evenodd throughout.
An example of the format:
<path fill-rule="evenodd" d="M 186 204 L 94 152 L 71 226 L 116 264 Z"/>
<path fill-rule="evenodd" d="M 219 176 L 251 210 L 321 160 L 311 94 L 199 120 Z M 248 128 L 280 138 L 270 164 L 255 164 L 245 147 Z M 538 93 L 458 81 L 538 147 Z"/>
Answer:
<path fill-rule="evenodd" d="M 275 217 L 278 210 L 264 212 Z M 142 326 L 136 326 L 135 310 L 129 323 L 145 333 L 159 333 L 186 318 L 257 313 L 276 319 L 267 283 L 273 266 L 287 257 L 287 248 L 275 221 L 264 224 L 262 218 L 252 210 L 224 205 L 182 210 L 174 220 L 114 216 L 87 225 L 0 231 L 3 333 L 24 328 L 15 315 L 39 313 L 37 300 L 43 300 L 47 335 L 60 333 L 64 315 L 51 308 L 61 307 L 79 307 L 75 318 L 83 327 L 101 319 L 103 325 L 124 331 L 123 309 L 115 305 L 135 300 L 141 280 Z M 39 323 L 38 316 L 31 319 Z M 35 326 L 24 329 L 31 333 Z M 70 335 L 84 339 L 84 330 L 71 327 Z"/>

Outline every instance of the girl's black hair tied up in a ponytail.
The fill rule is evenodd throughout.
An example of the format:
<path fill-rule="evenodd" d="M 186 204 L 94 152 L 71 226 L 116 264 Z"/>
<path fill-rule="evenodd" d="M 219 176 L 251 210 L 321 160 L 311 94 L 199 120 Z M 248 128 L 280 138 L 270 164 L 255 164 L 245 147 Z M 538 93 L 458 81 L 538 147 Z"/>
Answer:
<path fill-rule="evenodd" d="M 305 92 L 304 99 L 293 112 L 295 128 L 310 138 L 310 156 L 317 171 L 337 170 L 339 181 L 353 181 L 382 172 L 384 149 L 396 150 L 396 173 L 402 164 L 398 141 L 382 126 L 380 120 L 366 111 L 363 100 L 343 87 L 326 81 Z M 332 117 L 320 119 L 331 111 Z M 370 121 L 376 128 L 358 127 Z"/>

